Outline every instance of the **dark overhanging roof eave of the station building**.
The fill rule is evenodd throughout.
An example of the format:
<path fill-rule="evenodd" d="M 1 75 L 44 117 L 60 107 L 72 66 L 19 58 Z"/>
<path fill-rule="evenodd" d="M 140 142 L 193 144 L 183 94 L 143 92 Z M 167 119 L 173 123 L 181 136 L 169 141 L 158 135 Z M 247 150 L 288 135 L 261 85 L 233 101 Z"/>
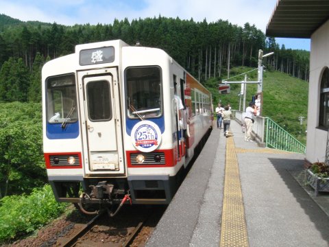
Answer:
<path fill-rule="evenodd" d="M 310 38 L 329 19 L 329 0 L 278 0 L 266 36 Z"/>

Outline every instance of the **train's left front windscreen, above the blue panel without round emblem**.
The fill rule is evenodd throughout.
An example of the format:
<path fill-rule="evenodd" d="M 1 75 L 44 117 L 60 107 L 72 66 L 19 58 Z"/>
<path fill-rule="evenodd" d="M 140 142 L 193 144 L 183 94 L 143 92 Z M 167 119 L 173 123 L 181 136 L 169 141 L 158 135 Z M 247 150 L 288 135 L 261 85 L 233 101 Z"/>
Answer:
<path fill-rule="evenodd" d="M 77 121 L 77 92 L 73 74 L 47 79 L 47 120 L 51 124 Z"/>

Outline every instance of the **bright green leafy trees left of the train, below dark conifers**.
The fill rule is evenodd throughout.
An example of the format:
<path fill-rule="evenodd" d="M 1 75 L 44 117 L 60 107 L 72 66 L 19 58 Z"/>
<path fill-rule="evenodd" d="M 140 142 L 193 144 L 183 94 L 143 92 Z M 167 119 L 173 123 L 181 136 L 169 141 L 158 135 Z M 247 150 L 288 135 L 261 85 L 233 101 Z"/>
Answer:
<path fill-rule="evenodd" d="M 0 198 L 45 183 L 41 104 L 0 104 Z"/>

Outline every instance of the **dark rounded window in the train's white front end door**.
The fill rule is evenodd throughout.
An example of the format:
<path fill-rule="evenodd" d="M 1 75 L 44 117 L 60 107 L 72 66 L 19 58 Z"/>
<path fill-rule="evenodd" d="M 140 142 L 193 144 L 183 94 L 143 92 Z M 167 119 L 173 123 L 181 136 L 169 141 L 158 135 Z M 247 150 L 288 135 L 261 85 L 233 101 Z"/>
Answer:
<path fill-rule="evenodd" d="M 106 80 L 88 82 L 86 93 L 90 121 L 109 121 L 112 119 L 109 82 Z"/>

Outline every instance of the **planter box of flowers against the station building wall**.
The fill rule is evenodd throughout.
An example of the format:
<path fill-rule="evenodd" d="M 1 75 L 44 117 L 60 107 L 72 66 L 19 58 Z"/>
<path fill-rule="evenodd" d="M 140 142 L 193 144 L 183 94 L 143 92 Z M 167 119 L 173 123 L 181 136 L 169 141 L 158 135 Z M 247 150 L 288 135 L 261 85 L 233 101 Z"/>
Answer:
<path fill-rule="evenodd" d="M 315 162 L 306 169 L 306 183 L 313 187 L 315 196 L 319 192 L 329 192 L 329 165 L 324 162 Z"/>

